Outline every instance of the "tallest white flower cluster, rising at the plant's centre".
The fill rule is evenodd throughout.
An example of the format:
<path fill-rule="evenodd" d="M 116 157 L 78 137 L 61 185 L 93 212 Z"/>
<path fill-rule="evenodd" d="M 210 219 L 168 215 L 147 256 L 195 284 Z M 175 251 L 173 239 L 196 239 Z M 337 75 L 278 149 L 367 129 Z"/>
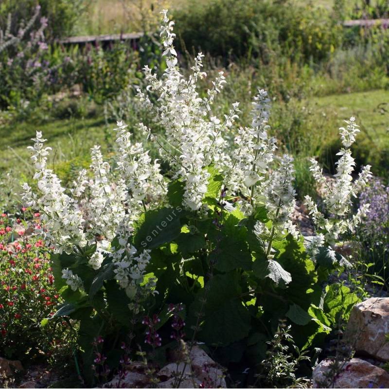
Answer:
<path fill-rule="evenodd" d="M 177 53 L 173 46 L 175 34 L 172 33 L 174 22 L 169 20 L 166 10 L 162 11 L 162 15 L 161 36 L 167 69 L 162 79 L 158 80 L 147 66 L 144 68 L 145 79 L 149 83 L 147 91 L 159 94 L 159 106 L 154 106 L 141 90 L 138 90 L 138 96 L 155 111 L 157 120 L 166 129 L 166 139 L 150 135 L 161 146 L 160 151 L 168 153 L 171 165 L 177 169 L 177 177 L 181 177 L 185 183 L 183 205 L 195 211 L 201 207 L 207 192 L 209 173 L 205 168 L 214 164 L 217 169 L 224 170 L 230 164 L 230 157 L 224 152 L 227 143 L 222 133 L 237 118 L 238 103 L 233 104 L 223 121 L 216 117 L 207 119 L 215 95 L 226 83 L 223 72 L 219 72 L 212 82 L 207 97 L 200 98 L 196 83 L 198 78 L 206 76 L 201 71 L 203 54 L 199 53 L 195 58 L 193 73 L 186 80 L 176 66 Z M 171 150 L 166 150 L 163 144 L 168 144 Z"/>

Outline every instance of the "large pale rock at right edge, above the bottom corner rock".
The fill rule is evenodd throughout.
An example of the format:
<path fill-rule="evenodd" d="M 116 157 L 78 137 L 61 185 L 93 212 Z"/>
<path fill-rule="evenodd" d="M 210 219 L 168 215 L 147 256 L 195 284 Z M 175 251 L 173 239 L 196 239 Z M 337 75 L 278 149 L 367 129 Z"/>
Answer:
<path fill-rule="evenodd" d="M 346 340 L 356 353 L 389 361 L 389 298 L 371 298 L 355 304 L 346 330 Z"/>

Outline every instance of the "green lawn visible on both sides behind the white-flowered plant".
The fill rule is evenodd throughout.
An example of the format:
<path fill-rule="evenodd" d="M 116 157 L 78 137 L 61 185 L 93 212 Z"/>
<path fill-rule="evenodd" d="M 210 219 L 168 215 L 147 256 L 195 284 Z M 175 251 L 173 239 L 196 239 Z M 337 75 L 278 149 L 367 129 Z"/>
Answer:
<path fill-rule="evenodd" d="M 332 129 L 337 136 L 337 128 L 343 120 L 356 116 L 361 126 L 360 141 L 368 141 L 368 147 L 389 148 L 389 92 L 372 90 L 368 92 L 348 93 L 318 97 L 313 100 L 315 120 L 326 128 Z M 323 123 L 324 121 L 324 123 Z M 69 170 L 88 165 L 89 151 L 94 144 L 106 149 L 107 137 L 113 135 L 115 124 L 105 124 L 102 116 L 88 119 L 54 120 L 43 124 L 18 123 L 3 127 L 2 158 L 0 172 L 10 169 L 22 174 L 33 171 L 27 146 L 35 130 L 43 132 L 48 139 L 47 145 L 53 148 L 50 164 L 59 171 L 60 177 L 67 177 Z"/>

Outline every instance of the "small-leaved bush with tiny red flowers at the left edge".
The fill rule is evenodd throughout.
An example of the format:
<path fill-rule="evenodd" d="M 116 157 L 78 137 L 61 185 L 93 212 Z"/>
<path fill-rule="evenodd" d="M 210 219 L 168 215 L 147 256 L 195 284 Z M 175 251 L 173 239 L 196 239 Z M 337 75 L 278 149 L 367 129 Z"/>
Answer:
<path fill-rule="evenodd" d="M 39 351 L 50 353 L 55 323 L 42 332 L 41 321 L 53 316 L 60 301 L 53 285 L 50 251 L 42 239 L 14 230 L 7 214 L 0 215 L 0 354 L 23 359 Z M 35 213 L 35 228 L 40 228 Z M 19 240 L 12 241 L 13 237 Z M 62 330 L 60 330 L 62 331 Z M 26 336 L 28 334 L 28 336 Z"/>

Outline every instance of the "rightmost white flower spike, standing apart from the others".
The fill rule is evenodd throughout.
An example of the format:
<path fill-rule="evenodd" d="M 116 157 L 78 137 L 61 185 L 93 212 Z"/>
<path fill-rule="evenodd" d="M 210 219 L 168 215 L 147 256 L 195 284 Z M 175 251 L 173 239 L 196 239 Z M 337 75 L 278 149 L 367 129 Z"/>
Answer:
<path fill-rule="evenodd" d="M 370 165 L 365 166 L 359 177 L 353 182 L 354 158 L 352 157 L 350 146 L 355 141 L 355 135 L 359 132 L 355 124 L 355 118 L 345 121 L 348 125 L 346 128 L 340 127 L 339 133 L 343 148 L 337 153 L 341 156 L 336 162 L 336 174 L 332 185 L 327 183 L 323 176 L 322 169 L 318 166 L 315 159 L 311 160 L 311 171 L 316 181 L 321 183 L 326 188 L 324 195 L 325 212 L 329 215 L 326 217 L 318 210 L 318 205 L 310 196 L 305 197 L 312 220 L 315 223 L 316 230 L 322 234 L 326 243 L 330 246 L 335 246 L 335 243 L 340 234 L 347 230 L 354 231 L 361 218 L 369 211 L 369 205 L 366 205 L 358 210 L 358 212 L 350 219 L 348 215 L 351 212 L 352 198 L 356 197 L 358 192 L 367 184 L 367 180 L 371 177 Z M 307 249 L 311 250 L 312 242 L 306 241 Z M 315 254 L 315 250 L 312 251 Z"/>

